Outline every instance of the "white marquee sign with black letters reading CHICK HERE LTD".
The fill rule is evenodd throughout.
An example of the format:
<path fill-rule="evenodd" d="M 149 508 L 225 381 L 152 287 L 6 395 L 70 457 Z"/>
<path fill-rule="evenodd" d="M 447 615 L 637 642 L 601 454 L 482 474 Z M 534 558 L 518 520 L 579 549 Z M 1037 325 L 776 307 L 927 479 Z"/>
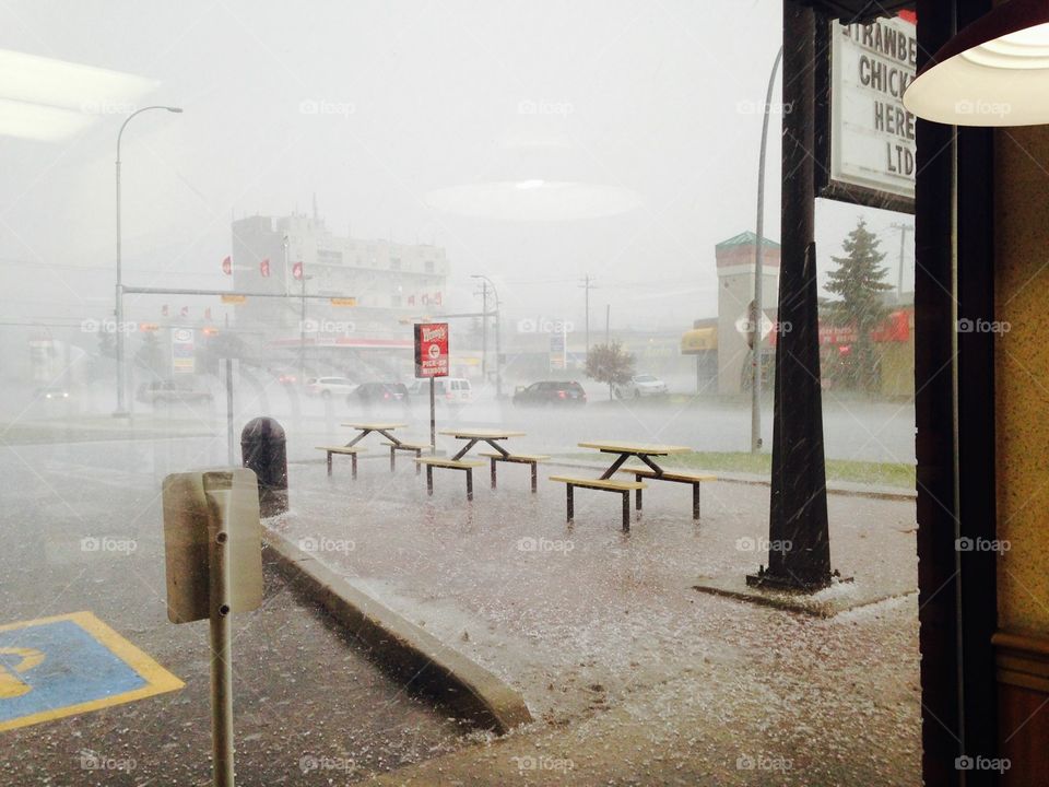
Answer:
<path fill-rule="evenodd" d="M 820 196 L 914 213 L 915 125 L 904 92 L 915 80 L 916 24 L 900 16 L 870 24 L 828 22 L 829 52 L 817 77 L 825 129 Z"/>

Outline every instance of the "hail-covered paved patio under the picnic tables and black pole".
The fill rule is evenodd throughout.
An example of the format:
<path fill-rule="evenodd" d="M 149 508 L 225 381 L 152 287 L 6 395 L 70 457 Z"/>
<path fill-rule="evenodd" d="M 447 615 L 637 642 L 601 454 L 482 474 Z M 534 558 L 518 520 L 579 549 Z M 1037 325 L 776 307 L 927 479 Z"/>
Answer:
<path fill-rule="evenodd" d="M 912 503 L 829 498 L 833 563 L 859 590 L 826 592 L 897 598 L 821 620 L 692 589 L 766 562 L 767 488 L 705 484 L 694 525 L 687 489 L 652 484 L 626 535 L 614 495 L 578 493 L 569 529 L 562 488 L 530 495 L 524 469 L 497 492 L 479 473 L 468 505 L 460 473 L 427 498 L 408 465 L 355 483 L 295 465 L 279 529 L 541 721 L 389 784 L 919 783 Z"/>

